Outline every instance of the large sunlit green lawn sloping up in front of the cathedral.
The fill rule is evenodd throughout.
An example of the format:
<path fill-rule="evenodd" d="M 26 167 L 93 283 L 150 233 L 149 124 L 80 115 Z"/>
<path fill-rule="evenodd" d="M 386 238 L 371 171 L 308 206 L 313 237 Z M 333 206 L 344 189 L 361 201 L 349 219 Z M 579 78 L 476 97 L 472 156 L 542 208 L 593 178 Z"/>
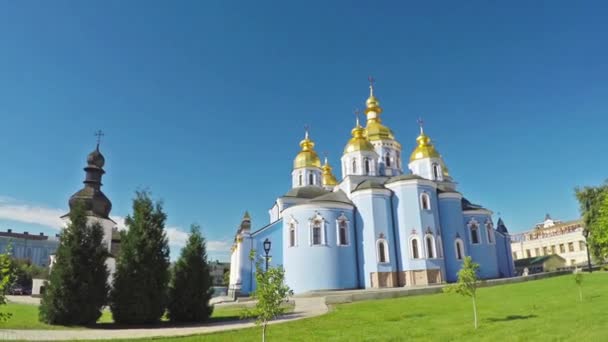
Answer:
<path fill-rule="evenodd" d="M 270 341 L 608 340 L 608 273 L 585 274 L 583 296 L 581 303 L 572 275 L 481 288 L 477 331 L 471 300 L 455 294 L 357 302 L 337 305 L 323 316 L 270 326 L 267 337 Z M 260 333 L 253 328 L 155 341 L 259 341 Z"/>

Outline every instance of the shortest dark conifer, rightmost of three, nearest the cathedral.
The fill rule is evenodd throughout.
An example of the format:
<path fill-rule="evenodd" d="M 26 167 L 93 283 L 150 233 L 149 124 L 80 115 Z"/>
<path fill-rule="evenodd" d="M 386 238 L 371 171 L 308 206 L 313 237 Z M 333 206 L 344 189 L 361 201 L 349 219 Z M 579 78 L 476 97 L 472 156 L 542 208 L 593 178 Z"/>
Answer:
<path fill-rule="evenodd" d="M 188 243 L 174 267 L 169 288 L 169 319 L 174 322 L 203 322 L 213 312 L 209 300 L 213 294 L 205 238 L 192 225 Z"/>

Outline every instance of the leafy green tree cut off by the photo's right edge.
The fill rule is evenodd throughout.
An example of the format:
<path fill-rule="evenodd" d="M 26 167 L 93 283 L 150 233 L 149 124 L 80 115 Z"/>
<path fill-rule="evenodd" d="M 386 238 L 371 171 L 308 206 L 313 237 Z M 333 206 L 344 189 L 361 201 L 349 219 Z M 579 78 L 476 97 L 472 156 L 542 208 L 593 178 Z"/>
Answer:
<path fill-rule="evenodd" d="M 597 261 L 608 258 L 608 181 L 596 187 L 577 188 L 585 229 L 589 231 L 589 251 Z"/>

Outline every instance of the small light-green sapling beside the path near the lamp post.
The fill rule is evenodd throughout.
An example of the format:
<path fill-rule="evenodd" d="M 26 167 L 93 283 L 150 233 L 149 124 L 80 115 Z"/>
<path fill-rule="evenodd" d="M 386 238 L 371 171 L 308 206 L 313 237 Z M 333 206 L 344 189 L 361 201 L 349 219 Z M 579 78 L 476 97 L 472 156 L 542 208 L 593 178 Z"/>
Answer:
<path fill-rule="evenodd" d="M 250 253 L 250 257 L 252 255 L 255 255 L 254 250 Z M 264 271 L 262 261 L 258 260 L 255 269 L 256 289 L 252 297 L 257 299 L 257 303 L 253 309 L 246 309 L 243 316 L 256 319 L 256 325 L 262 326 L 262 341 L 266 341 L 266 326 L 268 322 L 285 312 L 282 304 L 289 299 L 291 290 L 285 285 L 283 267 L 268 267 L 268 270 Z"/>

